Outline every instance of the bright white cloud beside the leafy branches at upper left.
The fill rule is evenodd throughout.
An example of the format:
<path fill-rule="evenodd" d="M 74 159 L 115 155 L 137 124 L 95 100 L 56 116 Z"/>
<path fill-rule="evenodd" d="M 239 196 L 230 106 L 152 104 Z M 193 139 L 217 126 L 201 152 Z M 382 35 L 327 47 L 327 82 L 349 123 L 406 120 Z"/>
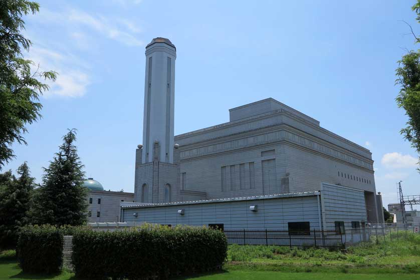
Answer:
<path fill-rule="evenodd" d="M 33 47 L 27 58 L 37 65 L 39 64 L 40 71 L 54 70 L 59 73 L 55 82 L 46 82 L 50 86 L 50 90 L 44 93 L 44 97 L 48 98 L 54 95 L 81 97 L 86 93 L 86 88 L 90 84 L 86 65 L 79 64 L 77 58 L 71 54 L 61 54 L 45 48 Z"/>

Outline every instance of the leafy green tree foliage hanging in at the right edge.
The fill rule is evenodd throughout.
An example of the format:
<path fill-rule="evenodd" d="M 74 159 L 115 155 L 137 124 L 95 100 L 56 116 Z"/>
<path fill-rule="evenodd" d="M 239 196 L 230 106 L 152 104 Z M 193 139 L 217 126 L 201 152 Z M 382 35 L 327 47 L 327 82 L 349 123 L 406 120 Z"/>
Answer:
<path fill-rule="evenodd" d="M 416 20 L 420 23 L 420 0 L 417 0 L 412 10 L 417 14 Z M 420 39 L 409 27 L 415 41 L 419 43 Z M 398 61 L 396 76 L 395 84 L 400 85 L 401 89 L 395 100 L 408 117 L 406 127 L 400 133 L 420 153 L 420 50 L 409 51 Z M 420 169 L 417 170 L 420 172 Z"/>

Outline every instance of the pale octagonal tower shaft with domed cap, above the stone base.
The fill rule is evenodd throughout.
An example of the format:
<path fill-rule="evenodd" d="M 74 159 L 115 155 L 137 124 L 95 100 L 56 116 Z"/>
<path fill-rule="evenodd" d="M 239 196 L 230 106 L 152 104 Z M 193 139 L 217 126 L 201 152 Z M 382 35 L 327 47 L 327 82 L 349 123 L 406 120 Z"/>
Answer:
<path fill-rule="evenodd" d="M 173 109 L 176 48 L 165 38 L 155 38 L 146 46 L 144 83 L 142 162 L 153 161 L 159 143 L 159 161 L 173 163 Z"/>

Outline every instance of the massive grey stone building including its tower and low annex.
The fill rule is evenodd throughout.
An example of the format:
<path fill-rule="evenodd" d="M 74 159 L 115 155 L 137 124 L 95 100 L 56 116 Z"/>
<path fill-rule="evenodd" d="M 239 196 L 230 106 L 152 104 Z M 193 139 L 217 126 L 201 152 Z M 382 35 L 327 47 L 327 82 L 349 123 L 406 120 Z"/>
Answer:
<path fill-rule="evenodd" d="M 290 219 L 281 220 L 288 209 L 280 205 L 296 203 L 311 213 L 316 211 L 311 208 L 314 201 L 320 199 L 324 207 L 318 210 L 324 214 L 317 214 L 321 220 L 318 225 L 312 222 L 314 226 L 333 226 L 331 221 L 322 221 L 333 215 L 340 218 L 337 221 L 345 220 L 346 226 L 352 221 L 383 222 L 370 151 L 275 99 L 230 109 L 227 123 L 174 136 L 175 59 L 175 46 L 168 39 L 155 38 L 146 46 L 143 143 L 136 150 L 135 203 L 122 207 L 122 220 L 191 224 L 185 218 L 188 208 L 193 209 L 198 224 L 220 223 L 224 219 L 218 218 L 217 210 L 208 218 L 204 212 L 237 205 L 246 209 L 258 201 L 259 205 L 277 205 L 271 210 L 257 208 L 264 215 L 279 217 L 260 226 L 284 226 Z M 327 196 L 328 201 L 322 198 Z M 185 206 L 177 209 L 183 218 L 172 211 L 180 205 Z M 273 209 L 275 213 L 267 212 Z M 225 226 L 250 227 L 253 223 L 243 222 L 248 213 L 244 211 L 230 216 L 232 222 Z M 295 213 L 291 220 L 306 215 L 302 214 L 305 210 Z M 162 220 L 162 215 L 171 218 Z"/>

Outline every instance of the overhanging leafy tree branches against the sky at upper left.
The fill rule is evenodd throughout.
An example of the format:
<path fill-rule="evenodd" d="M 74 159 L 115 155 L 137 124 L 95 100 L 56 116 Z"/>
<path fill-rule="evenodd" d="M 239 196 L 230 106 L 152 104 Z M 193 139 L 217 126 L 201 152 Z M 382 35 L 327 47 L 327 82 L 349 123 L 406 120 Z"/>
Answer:
<path fill-rule="evenodd" d="M 15 155 L 14 142 L 26 144 L 26 125 L 37 121 L 42 105 L 39 95 L 49 89 L 41 79 L 55 81 L 53 71 L 32 71 L 36 65 L 23 58 L 31 41 L 22 35 L 22 16 L 39 11 L 39 4 L 25 0 L 0 0 L 0 169 Z"/>

